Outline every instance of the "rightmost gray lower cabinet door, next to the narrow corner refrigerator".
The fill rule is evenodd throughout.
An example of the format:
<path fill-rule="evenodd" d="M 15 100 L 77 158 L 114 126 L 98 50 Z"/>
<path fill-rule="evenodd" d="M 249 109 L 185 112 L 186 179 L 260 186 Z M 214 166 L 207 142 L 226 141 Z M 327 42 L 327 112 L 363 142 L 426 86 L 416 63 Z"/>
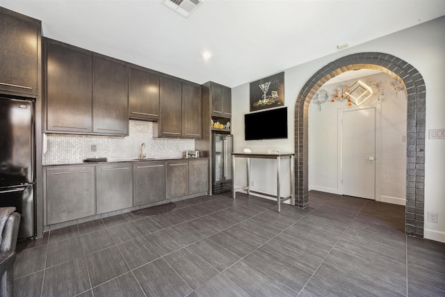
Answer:
<path fill-rule="evenodd" d="M 188 161 L 188 193 L 209 191 L 209 159 Z"/>

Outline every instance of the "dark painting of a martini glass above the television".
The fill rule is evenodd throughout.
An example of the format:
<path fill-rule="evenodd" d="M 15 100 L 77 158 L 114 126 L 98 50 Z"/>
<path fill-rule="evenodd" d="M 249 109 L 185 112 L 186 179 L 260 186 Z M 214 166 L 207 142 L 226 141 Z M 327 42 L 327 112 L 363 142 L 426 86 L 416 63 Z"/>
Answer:
<path fill-rule="evenodd" d="M 284 106 L 284 72 L 250 83 L 250 111 Z"/>

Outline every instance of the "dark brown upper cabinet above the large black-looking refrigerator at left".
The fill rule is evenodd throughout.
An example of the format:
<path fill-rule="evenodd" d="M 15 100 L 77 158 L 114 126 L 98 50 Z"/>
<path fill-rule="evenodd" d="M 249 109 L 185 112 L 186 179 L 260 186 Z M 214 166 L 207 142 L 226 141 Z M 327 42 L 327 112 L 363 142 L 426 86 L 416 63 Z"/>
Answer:
<path fill-rule="evenodd" d="M 0 90 L 38 95 L 41 24 L 0 7 Z"/>

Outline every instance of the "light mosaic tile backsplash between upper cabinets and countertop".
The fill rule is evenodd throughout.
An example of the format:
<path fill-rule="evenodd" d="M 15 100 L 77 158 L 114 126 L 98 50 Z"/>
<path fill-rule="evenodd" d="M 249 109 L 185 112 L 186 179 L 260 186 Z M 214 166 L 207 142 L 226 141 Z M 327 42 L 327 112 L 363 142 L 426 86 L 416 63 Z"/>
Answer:
<path fill-rule="evenodd" d="M 106 157 L 109 161 L 140 156 L 145 143 L 147 158 L 181 158 L 185 150 L 195 150 L 193 139 L 157 138 L 158 123 L 130 120 L 129 136 L 47 134 L 43 165 L 82 163 L 83 159 Z M 92 152 L 92 150 L 96 150 Z"/>

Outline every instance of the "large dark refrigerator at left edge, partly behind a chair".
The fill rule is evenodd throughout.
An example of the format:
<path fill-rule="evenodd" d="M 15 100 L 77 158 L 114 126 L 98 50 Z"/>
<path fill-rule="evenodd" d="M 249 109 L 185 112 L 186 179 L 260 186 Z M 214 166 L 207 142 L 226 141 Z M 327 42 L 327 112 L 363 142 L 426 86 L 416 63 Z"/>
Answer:
<path fill-rule="evenodd" d="M 0 207 L 22 214 L 19 238 L 35 236 L 33 102 L 0 96 Z"/>

